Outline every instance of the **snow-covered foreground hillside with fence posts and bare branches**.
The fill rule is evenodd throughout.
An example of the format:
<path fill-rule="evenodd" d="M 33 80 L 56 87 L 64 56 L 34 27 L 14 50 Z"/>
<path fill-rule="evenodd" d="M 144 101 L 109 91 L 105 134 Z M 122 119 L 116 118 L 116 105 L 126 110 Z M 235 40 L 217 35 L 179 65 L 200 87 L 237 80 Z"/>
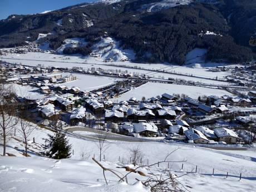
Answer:
<path fill-rule="evenodd" d="M 18 129 L 18 127 L 17 127 Z M 30 149 L 39 151 L 43 143 L 42 138 L 46 138 L 51 131 L 39 128 L 29 137 L 35 137 L 36 144 L 29 142 Z M 15 138 L 15 139 L 13 139 Z M 81 139 L 74 135 L 68 135 L 68 140 L 72 144 L 74 154 L 70 159 L 53 160 L 35 155 L 29 151 L 31 157 L 22 156 L 23 144 L 19 135 L 8 139 L 7 152 L 16 157 L 0 156 L 0 191 L 150 191 L 135 178 L 144 180 L 147 176 L 139 176 L 132 173 L 129 176 L 129 184 L 118 183 L 118 179 L 110 173 L 106 174 L 109 185 L 105 184 L 102 169 L 95 164 L 91 158 L 81 160 L 81 152 L 85 151 L 90 157 L 95 154 L 99 159 L 97 141 Z M 165 156 L 175 151 L 168 160 L 184 161 L 184 168 L 181 170 L 181 163 L 171 163 L 169 168 L 189 191 L 256 191 L 256 160 L 252 153 L 247 152 L 237 155 L 234 151 L 217 151 L 203 147 L 189 146 L 185 144 L 165 144 L 161 142 L 124 142 L 108 141 L 107 149 L 104 151 L 106 160 L 102 164 L 107 168 L 117 169 L 120 174 L 126 174 L 124 169 L 116 166 L 129 165 L 129 151 L 132 147 L 139 146 L 144 153 L 142 160 L 149 164 L 163 160 Z M 0 146 L 2 152 L 2 146 Z M 119 162 L 119 156 L 120 161 Z M 123 160 L 124 159 L 124 160 Z M 124 164 L 122 164 L 122 162 Z M 128 163 L 128 164 L 127 164 Z M 195 166 L 198 165 L 197 173 Z M 130 165 L 131 166 L 131 165 Z M 214 168 L 214 176 L 211 175 Z M 141 169 L 146 175 L 150 173 L 160 173 L 167 169 L 167 164 L 160 164 L 160 168 L 152 166 L 150 170 Z M 229 177 L 226 179 L 227 171 Z M 242 180 L 239 175 L 242 173 Z"/>

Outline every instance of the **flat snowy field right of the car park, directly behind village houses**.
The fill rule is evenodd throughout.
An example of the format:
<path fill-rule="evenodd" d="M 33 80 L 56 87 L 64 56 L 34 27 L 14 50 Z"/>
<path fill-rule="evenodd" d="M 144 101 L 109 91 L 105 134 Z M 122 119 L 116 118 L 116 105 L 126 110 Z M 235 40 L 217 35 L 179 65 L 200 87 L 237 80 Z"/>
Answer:
<path fill-rule="evenodd" d="M 163 93 L 175 93 L 180 95 L 185 94 L 193 99 L 198 99 L 199 96 L 203 95 L 232 95 L 231 93 L 225 90 L 218 90 L 214 88 L 148 82 L 145 85 L 142 85 L 138 88 L 134 88 L 133 90 L 124 93 L 119 98 L 112 99 L 112 101 L 129 100 L 131 97 L 135 97 L 140 100 L 143 96 L 146 97 L 146 99 L 149 99 L 151 97 L 155 97 Z"/>

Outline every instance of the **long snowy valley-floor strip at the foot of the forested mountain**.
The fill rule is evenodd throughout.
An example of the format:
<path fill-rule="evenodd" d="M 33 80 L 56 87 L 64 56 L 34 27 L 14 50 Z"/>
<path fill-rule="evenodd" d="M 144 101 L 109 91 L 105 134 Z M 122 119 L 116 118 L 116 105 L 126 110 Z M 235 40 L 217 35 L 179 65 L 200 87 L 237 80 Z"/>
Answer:
<path fill-rule="evenodd" d="M 185 75 L 194 75 L 199 77 L 207 77 L 207 78 L 223 78 L 224 76 L 229 75 L 229 72 L 210 72 L 208 68 L 201 67 L 202 64 L 198 65 L 189 65 L 188 67 L 184 66 L 176 66 L 170 64 L 145 64 L 145 63 L 132 63 L 129 61 L 125 62 L 104 62 L 100 58 L 94 57 L 80 57 L 80 56 L 65 56 L 65 55 L 53 55 L 49 53 L 26 53 L 26 54 L 10 54 L 7 56 L 2 56 L 1 59 L 3 61 L 12 62 L 12 63 L 22 63 L 23 65 L 29 66 L 37 66 L 41 64 L 43 66 L 57 66 L 57 67 L 83 67 L 85 69 L 93 67 L 101 67 L 106 70 L 121 70 L 121 71 L 128 71 L 129 73 L 136 73 L 136 74 L 147 74 L 149 71 L 143 70 L 144 69 L 154 69 L 159 70 L 160 68 L 164 68 L 165 71 L 175 72 L 175 73 L 183 73 Z M 124 68 L 124 67 L 115 67 L 115 66 L 106 66 L 106 65 L 120 65 L 120 66 L 136 66 L 137 68 Z M 209 64 L 209 66 L 211 66 Z M 201 78 L 191 77 L 191 76 L 180 76 L 180 75 L 170 75 L 167 73 L 156 73 L 151 72 L 148 76 L 155 77 L 155 78 L 181 78 L 184 80 L 191 80 L 195 82 L 204 82 L 210 83 L 215 85 L 228 85 L 228 82 L 220 82 L 220 81 L 213 81 L 213 80 L 205 80 Z"/>

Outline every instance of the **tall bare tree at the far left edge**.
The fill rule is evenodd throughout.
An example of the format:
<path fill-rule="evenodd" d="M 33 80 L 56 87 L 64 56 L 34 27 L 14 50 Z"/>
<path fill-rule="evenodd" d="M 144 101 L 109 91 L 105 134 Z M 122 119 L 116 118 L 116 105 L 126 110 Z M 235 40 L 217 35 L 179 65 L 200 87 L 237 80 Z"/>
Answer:
<path fill-rule="evenodd" d="M 16 112 L 14 105 L 14 94 L 12 87 L 9 85 L 0 84 L 0 127 L 1 137 L 3 138 L 3 156 L 6 155 L 7 136 L 12 133 L 12 130 L 17 124 L 17 119 L 14 117 Z"/>

